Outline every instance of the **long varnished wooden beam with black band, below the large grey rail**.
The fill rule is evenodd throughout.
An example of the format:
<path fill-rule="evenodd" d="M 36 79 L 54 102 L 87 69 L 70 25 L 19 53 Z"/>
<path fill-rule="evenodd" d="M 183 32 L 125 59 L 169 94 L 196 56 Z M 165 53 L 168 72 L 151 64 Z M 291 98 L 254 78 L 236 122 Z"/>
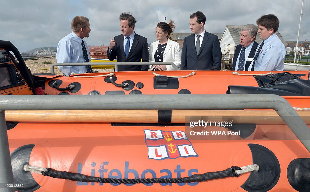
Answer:
<path fill-rule="evenodd" d="M 297 113 L 310 124 L 310 111 Z M 189 116 L 202 117 L 204 121 L 233 119 L 233 123 L 284 123 L 272 110 L 172 110 L 171 123 L 185 123 L 185 117 Z M 5 117 L 6 121 L 20 122 L 157 123 L 158 110 L 16 110 L 5 111 Z"/>

